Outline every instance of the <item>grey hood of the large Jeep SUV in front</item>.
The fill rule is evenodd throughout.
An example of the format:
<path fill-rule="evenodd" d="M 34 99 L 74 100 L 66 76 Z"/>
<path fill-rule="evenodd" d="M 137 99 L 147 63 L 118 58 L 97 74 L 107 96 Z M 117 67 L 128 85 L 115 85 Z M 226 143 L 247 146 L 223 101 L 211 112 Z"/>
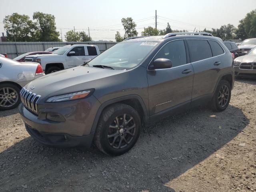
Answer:
<path fill-rule="evenodd" d="M 104 78 L 124 72 L 127 71 L 77 66 L 37 78 L 28 83 L 26 89 L 41 95 L 42 98 L 56 96 L 101 86 L 102 82 L 107 81 L 103 80 Z M 33 90 L 30 89 L 32 86 Z"/>

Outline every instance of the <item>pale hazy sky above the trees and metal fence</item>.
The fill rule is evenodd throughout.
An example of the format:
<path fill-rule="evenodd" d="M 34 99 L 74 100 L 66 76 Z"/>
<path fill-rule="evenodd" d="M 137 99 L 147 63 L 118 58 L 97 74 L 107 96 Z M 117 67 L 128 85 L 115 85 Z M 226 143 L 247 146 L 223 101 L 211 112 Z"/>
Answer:
<path fill-rule="evenodd" d="M 256 0 L 1 0 L 0 32 L 5 32 L 3 19 L 14 12 L 30 16 L 34 12 L 53 14 L 62 39 L 68 30 L 82 31 L 92 40 L 115 40 L 116 31 L 124 34 L 121 19 L 132 17 L 138 36 L 144 27 L 196 30 L 220 28 L 224 24 L 238 26 L 246 13 L 256 9 Z M 61 36 L 60 36 L 61 38 Z"/>

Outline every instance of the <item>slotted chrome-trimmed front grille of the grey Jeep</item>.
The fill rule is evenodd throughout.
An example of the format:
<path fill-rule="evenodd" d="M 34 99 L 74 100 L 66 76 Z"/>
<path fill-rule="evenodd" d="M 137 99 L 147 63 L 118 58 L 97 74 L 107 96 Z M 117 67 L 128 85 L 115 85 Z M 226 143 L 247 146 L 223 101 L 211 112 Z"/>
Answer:
<path fill-rule="evenodd" d="M 35 93 L 32 93 L 31 91 L 27 90 L 25 87 L 22 88 L 22 90 L 20 90 L 20 98 L 21 98 L 21 101 L 22 103 L 24 104 L 24 106 L 38 114 L 38 101 L 40 99 L 40 95 L 37 95 Z"/>

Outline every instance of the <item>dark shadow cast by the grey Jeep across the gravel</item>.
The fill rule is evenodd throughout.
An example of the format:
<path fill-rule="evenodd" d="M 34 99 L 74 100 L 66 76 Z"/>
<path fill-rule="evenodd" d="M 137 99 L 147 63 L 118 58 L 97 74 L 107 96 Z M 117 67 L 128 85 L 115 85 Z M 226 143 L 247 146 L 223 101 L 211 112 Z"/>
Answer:
<path fill-rule="evenodd" d="M 174 192 L 167 183 L 230 142 L 248 123 L 234 106 L 220 113 L 191 110 L 144 127 L 134 148 L 118 157 L 95 147 L 49 148 L 25 138 L 0 153 L 0 188 L 2 192 Z"/>

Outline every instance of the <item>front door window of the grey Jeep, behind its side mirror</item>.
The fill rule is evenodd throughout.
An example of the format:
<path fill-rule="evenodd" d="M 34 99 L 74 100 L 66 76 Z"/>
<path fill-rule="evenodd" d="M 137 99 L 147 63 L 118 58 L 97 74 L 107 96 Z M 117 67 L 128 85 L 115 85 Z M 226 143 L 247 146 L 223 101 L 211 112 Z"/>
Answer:
<path fill-rule="evenodd" d="M 186 48 L 183 40 L 171 41 L 164 45 L 156 54 L 154 60 L 166 58 L 172 61 L 172 67 L 187 63 Z"/>

